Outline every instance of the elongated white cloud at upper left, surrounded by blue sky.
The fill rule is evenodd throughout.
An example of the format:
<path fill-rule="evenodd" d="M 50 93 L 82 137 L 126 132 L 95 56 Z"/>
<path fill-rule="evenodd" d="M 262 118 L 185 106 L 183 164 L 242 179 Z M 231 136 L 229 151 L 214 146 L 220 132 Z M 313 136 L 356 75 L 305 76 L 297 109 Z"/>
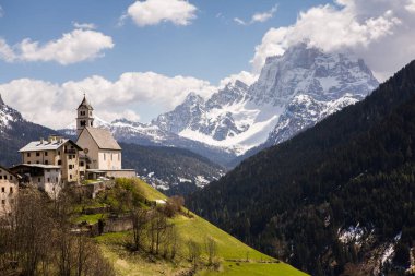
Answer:
<path fill-rule="evenodd" d="M 0 59 L 11 61 L 55 61 L 63 65 L 93 60 L 114 47 L 112 38 L 103 33 L 76 28 L 61 38 L 40 44 L 29 38 L 9 46 L 0 39 Z"/>

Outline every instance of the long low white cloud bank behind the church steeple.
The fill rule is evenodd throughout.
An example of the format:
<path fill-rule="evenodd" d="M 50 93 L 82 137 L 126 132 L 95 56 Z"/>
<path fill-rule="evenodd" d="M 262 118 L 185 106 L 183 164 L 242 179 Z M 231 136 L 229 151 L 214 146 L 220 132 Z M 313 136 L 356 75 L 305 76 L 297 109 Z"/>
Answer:
<path fill-rule="evenodd" d="M 71 123 L 73 109 L 84 92 L 96 113 L 112 121 L 119 118 L 139 120 L 141 116 L 137 108 L 143 104 L 167 111 L 180 104 L 189 92 L 206 97 L 215 92 L 215 87 L 194 77 L 168 77 L 154 72 L 128 72 L 115 82 L 93 75 L 63 84 L 20 79 L 0 85 L 7 104 L 22 111 L 26 119 L 56 129 Z"/>

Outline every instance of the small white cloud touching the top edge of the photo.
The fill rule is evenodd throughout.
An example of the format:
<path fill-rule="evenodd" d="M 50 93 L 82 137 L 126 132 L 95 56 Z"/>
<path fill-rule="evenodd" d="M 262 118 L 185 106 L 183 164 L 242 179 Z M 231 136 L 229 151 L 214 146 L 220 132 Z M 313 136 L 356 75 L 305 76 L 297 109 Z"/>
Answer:
<path fill-rule="evenodd" d="M 186 0 L 145 0 L 131 4 L 127 14 L 139 26 L 157 25 L 162 22 L 171 22 L 175 25 L 186 26 L 195 19 L 197 8 Z M 126 15 L 120 19 L 122 25 Z"/>

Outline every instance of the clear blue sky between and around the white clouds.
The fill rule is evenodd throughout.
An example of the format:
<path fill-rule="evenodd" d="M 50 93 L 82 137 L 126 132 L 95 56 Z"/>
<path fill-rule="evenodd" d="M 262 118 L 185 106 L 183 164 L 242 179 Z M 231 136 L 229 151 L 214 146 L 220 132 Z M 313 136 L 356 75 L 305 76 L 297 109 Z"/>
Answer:
<path fill-rule="evenodd" d="M 166 0 L 168 1 L 168 0 Z M 104 58 L 60 65 L 56 62 L 0 63 L 0 82 L 34 77 L 52 82 L 80 80 L 98 74 L 115 81 L 128 71 L 153 71 L 165 75 L 191 75 L 216 84 L 230 73 L 250 70 L 253 56 L 264 33 L 271 27 L 295 22 L 300 10 L 324 1 L 204 0 L 191 1 L 198 8 L 190 25 L 171 23 L 137 26 L 119 17 L 133 1 L 124 0 L 5 0 L 0 1 L 4 15 L 0 34 L 10 45 L 24 38 L 46 43 L 71 32 L 73 23 L 93 23 L 97 31 L 114 39 L 114 48 Z M 278 5 L 266 22 L 240 26 L 234 17 L 249 19 Z"/>

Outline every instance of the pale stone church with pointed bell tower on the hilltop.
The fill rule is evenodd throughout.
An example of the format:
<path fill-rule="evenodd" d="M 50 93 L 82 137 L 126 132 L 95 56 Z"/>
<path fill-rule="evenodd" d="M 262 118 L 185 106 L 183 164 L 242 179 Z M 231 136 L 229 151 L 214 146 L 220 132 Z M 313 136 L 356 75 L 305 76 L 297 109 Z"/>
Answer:
<path fill-rule="evenodd" d="M 134 177 L 132 169 L 122 169 L 122 149 L 112 133 L 106 129 L 94 128 L 94 108 L 84 96 L 76 109 L 76 145 L 83 148 L 80 168 L 86 178 Z M 83 165 L 83 166 L 82 166 Z"/>

